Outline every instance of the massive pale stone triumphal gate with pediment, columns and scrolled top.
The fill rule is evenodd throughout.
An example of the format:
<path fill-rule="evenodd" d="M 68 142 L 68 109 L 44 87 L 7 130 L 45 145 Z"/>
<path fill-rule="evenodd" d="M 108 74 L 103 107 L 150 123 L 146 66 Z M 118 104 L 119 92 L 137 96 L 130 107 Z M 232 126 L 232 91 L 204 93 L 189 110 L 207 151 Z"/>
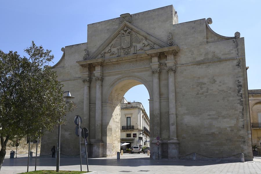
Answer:
<path fill-rule="evenodd" d="M 151 153 L 159 141 L 160 158 L 251 156 L 244 38 L 216 34 L 211 23 L 178 23 L 173 6 L 166 6 L 89 24 L 88 42 L 62 48 L 52 67 L 77 104 L 61 128 L 61 153 L 78 153 L 73 118 L 80 115 L 90 132 L 89 155 L 116 155 L 120 102 L 143 84 L 150 96 Z"/>

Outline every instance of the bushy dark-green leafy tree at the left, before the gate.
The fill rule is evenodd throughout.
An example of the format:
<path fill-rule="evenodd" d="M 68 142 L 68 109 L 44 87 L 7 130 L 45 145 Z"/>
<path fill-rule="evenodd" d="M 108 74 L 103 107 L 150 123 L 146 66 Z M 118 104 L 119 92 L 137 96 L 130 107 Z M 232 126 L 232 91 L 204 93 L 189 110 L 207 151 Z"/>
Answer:
<path fill-rule="evenodd" d="M 0 169 L 8 141 L 37 139 L 62 124 L 63 116 L 75 108 L 73 102 L 64 102 L 63 85 L 56 72 L 45 66 L 54 58 L 51 50 L 32 41 L 24 51 L 28 58 L 0 50 Z"/>

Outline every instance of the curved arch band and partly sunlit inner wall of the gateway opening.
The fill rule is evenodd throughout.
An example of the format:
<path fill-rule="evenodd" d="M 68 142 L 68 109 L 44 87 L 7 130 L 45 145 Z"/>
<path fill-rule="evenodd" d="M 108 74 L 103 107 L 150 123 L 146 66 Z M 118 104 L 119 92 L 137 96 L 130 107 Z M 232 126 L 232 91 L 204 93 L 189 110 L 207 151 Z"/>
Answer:
<path fill-rule="evenodd" d="M 132 87 L 145 84 L 148 89 L 150 99 L 152 99 L 152 90 L 149 83 L 137 75 L 123 75 L 115 79 L 106 89 L 103 105 L 103 128 L 102 140 L 104 143 L 104 156 L 112 156 L 119 151 L 120 147 L 120 117 L 121 100 L 124 94 Z M 107 125 L 107 127 L 106 127 Z"/>

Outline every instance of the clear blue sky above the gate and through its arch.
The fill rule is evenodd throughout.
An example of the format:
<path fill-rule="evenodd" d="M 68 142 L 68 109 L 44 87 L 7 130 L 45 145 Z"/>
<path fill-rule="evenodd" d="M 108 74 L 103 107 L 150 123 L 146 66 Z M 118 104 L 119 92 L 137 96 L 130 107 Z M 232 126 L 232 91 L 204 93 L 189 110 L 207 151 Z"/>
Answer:
<path fill-rule="evenodd" d="M 23 49 L 34 40 L 37 45 L 52 50 L 55 64 L 62 56 L 61 47 L 87 41 L 87 24 L 171 4 L 179 23 L 211 17 L 210 27 L 218 34 L 234 36 L 236 31 L 240 32 L 245 39 L 246 64 L 250 68 L 249 89 L 261 89 L 261 1 L 258 0 L 1 1 L 0 49 L 26 56 Z M 142 102 L 149 111 L 148 92 L 143 85 L 132 88 L 125 96 L 127 100 Z"/>

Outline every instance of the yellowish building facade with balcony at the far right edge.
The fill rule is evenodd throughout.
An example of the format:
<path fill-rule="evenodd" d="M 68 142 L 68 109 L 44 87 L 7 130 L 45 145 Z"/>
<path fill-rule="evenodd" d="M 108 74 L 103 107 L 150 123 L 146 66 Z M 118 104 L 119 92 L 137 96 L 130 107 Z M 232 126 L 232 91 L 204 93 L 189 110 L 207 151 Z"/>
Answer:
<path fill-rule="evenodd" d="M 254 155 L 261 155 L 261 89 L 248 90 L 252 144 L 259 146 Z"/>

